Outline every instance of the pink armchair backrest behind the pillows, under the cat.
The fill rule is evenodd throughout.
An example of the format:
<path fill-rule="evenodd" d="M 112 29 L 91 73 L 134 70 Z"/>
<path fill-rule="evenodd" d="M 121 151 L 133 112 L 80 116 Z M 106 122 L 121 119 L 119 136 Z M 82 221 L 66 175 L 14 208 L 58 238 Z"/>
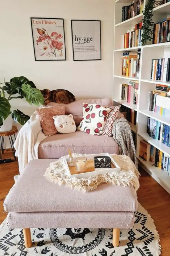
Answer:
<path fill-rule="evenodd" d="M 74 102 L 71 102 L 69 104 L 62 104 L 62 103 L 56 103 L 56 102 L 50 102 L 48 106 L 65 106 L 65 115 L 72 114 L 76 126 L 80 124 L 80 121 L 83 117 L 83 102 L 86 103 L 93 103 L 93 104 L 98 104 L 101 106 L 112 106 L 113 102 L 111 99 L 79 99 Z"/>

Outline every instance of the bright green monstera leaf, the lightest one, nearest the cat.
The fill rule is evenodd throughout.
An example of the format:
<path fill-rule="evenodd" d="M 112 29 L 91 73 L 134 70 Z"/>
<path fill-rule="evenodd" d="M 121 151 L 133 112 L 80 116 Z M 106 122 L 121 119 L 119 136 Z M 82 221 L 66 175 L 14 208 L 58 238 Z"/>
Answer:
<path fill-rule="evenodd" d="M 30 105 L 32 103 L 37 106 L 43 105 L 44 97 L 40 90 L 32 88 L 31 85 L 22 85 L 22 91 L 23 96 Z"/>

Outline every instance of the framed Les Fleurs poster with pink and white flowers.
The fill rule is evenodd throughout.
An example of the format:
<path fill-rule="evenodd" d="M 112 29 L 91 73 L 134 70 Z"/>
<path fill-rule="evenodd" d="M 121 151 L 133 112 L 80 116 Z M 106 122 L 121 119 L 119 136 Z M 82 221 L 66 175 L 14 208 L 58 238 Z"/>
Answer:
<path fill-rule="evenodd" d="M 31 18 L 35 61 L 65 61 L 64 20 Z"/>

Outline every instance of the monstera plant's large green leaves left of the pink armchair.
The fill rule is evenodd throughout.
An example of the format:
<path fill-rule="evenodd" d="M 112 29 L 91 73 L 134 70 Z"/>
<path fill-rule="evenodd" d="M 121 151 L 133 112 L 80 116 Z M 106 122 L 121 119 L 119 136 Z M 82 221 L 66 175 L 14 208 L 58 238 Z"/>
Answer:
<path fill-rule="evenodd" d="M 19 109 L 12 110 L 11 99 L 23 99 L 32 105 L 39 106 L 44 103 L 43 95 L 36 89 L 35 84 L 26 77 L 14 77 L 10 82 L 0 83 L 0 127 L 5 119 L 11 114 L 15 122 L 24 125 L 29 116 L 25 115 Z"/>

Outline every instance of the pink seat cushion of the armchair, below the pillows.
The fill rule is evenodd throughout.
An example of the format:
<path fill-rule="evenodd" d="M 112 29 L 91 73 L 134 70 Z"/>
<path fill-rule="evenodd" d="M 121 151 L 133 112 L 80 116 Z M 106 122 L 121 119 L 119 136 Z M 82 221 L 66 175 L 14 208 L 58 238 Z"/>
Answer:
<path fill-rule="evenodd" d="M 58 133 L 45 138 L 39 145 L 38 156 L 40 159 L 60 158 L 68 155 L 68 149 L 81 154 L 119 153 L 118 144 L 113 137 L 94 136 L 76 131 L 68 134 Z"/>

